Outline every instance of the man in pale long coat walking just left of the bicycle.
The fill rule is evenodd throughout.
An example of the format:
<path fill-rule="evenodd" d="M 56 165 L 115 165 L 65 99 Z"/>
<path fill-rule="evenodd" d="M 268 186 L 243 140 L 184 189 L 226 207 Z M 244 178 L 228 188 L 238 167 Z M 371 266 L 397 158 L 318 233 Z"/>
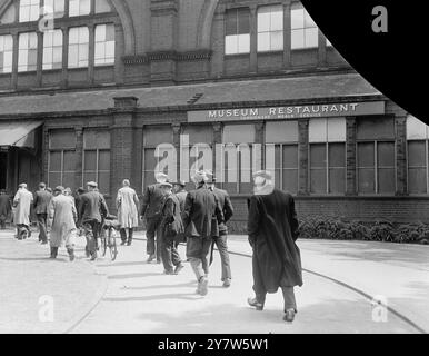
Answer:
<path fill-rule="evenodd" d="M 63 187 L 59 186 L 54 191 L 56 196 L 51 199 L 48 208 L 48 226 L 51 228 L 49 240 L 51 246 L 50 258 L 57 258 L 58 248 L 66 244 L 70 261 L 73 261 L 78 214 L 73 200 L 63 194 Z"/>

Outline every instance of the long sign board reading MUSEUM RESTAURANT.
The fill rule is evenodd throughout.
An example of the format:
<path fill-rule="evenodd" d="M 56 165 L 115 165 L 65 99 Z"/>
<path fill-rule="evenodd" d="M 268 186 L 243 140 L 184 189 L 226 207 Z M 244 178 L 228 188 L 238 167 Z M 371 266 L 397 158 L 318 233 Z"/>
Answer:
<path fill-rule="evenodd" d="M 188 122 L 329 118 L 385 113 L 385 101 L 188 111 Z"/>

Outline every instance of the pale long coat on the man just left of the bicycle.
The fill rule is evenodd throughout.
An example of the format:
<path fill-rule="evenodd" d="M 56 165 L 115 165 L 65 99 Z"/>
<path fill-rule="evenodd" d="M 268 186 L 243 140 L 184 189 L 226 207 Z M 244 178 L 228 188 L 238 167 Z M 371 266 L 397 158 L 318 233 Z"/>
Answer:
<path fill-rule="evenodd" d="M 51 199 L 48 208 L 48 225 L 51 226 L 50 245 L 60 247 L 76 230 L 74 201 L 64 195 L 59 195 Z"/>

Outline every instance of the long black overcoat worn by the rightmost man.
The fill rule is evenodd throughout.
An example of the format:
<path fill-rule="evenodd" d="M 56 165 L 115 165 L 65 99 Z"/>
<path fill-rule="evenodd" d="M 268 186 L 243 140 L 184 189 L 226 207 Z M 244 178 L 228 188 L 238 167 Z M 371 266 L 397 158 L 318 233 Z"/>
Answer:
<path fill-rule="evenodd" d="M 271 188 L 249 201 L 249 243 L 268 293 L 302 285 L 301 257 L 296 240 L 298 219 L 290 194 Z"/>

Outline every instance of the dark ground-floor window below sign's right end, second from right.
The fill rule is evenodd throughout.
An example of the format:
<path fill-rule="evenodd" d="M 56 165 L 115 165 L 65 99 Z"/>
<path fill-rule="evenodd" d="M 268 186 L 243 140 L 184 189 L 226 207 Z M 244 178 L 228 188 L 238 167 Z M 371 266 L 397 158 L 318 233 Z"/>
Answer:
<path fill-rule="evenodd" d="M 390 118 L 358 120 L 358 191 L 360 194 L 393 194 L 395 121 Z"/>

